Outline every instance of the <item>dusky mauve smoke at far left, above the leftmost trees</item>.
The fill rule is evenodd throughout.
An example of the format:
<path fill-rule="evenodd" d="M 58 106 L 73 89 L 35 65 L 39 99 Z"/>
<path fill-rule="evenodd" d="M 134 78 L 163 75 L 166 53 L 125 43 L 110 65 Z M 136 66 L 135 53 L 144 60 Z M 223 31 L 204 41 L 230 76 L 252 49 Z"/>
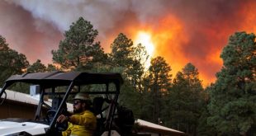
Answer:
<path fill-rule="evenodd" d="M 56 49 L 62 36 L 54 26 L 35 19 L 31 12 L 8 2 L 0 2 L 0 35 L 6 38 L 7 44 L 21 54 L 25 54 L 30 63 L 36 59 L 50 63 L 51 49 Z"/>

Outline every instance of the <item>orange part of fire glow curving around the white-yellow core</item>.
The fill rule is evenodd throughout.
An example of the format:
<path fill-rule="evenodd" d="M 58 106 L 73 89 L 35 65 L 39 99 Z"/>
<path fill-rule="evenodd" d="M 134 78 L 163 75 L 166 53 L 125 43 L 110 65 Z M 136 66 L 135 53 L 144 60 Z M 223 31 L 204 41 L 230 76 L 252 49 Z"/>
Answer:
<path fill-rule="evenodd" d="M 175 76 L 187 63 L 187 59 L 180 48 L 180 45 L 187 42 L 182 21 L 169 15 L 159 21 L 159 26 L 146 24 L 140 28 L 132 28 L 130 30 L 131 35 L 133 35 L 132 39 L 136 39 L 140 31 L 145 31 L 151 35 L 151 40 L 154 43 L 153 57 L 164 57 L 172 68 L 171 73 Z"/>

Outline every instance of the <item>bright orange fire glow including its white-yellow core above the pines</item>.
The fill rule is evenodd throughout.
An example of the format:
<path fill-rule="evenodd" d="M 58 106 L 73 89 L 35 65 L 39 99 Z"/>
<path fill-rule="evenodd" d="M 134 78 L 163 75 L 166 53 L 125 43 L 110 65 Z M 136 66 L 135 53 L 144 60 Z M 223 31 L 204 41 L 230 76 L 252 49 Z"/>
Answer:
<path fill-rule="evenodd" d="M 153 57 L 161 56 L 171 66 L 171 74 L 175 77 L 176 73 L 188 63 L 187 56 L 183 54 L 181 48 L 181 45 L 187 42 L 188 36 L 183 31 L 183 22 L 177 17 L 163 16 L 159 20 L 159 26 L 144 24 L 144 26 L 130 28 L 128 31 L 135 45 L 141 43 L 149 54 L 145 69 L 149 68 Z"/>

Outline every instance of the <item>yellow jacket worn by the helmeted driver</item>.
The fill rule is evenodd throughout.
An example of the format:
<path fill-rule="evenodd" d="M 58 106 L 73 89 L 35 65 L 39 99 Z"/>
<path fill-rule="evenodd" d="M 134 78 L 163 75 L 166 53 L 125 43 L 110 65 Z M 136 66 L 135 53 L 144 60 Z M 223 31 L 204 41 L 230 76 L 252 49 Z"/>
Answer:
<path fill-rule="evenodd" d="M 63 136 L 92 136 L 96 129 L 96 117 L 90 110 L 69 117 L 69 128 L 62 132 Z"/>

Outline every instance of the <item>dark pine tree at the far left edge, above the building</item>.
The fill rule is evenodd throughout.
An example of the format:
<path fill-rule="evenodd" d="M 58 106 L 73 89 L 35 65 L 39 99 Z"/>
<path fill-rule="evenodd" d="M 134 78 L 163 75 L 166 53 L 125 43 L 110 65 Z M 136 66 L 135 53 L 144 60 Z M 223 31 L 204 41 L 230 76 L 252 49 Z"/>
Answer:
<path fill-rule="evenodd" d="M 17 51 L 10 49 L 6 40 L 0 35 L 0 83 L 13 74 L 21 74 L 29 65 L 24 54 L 18 54 Z"/>

